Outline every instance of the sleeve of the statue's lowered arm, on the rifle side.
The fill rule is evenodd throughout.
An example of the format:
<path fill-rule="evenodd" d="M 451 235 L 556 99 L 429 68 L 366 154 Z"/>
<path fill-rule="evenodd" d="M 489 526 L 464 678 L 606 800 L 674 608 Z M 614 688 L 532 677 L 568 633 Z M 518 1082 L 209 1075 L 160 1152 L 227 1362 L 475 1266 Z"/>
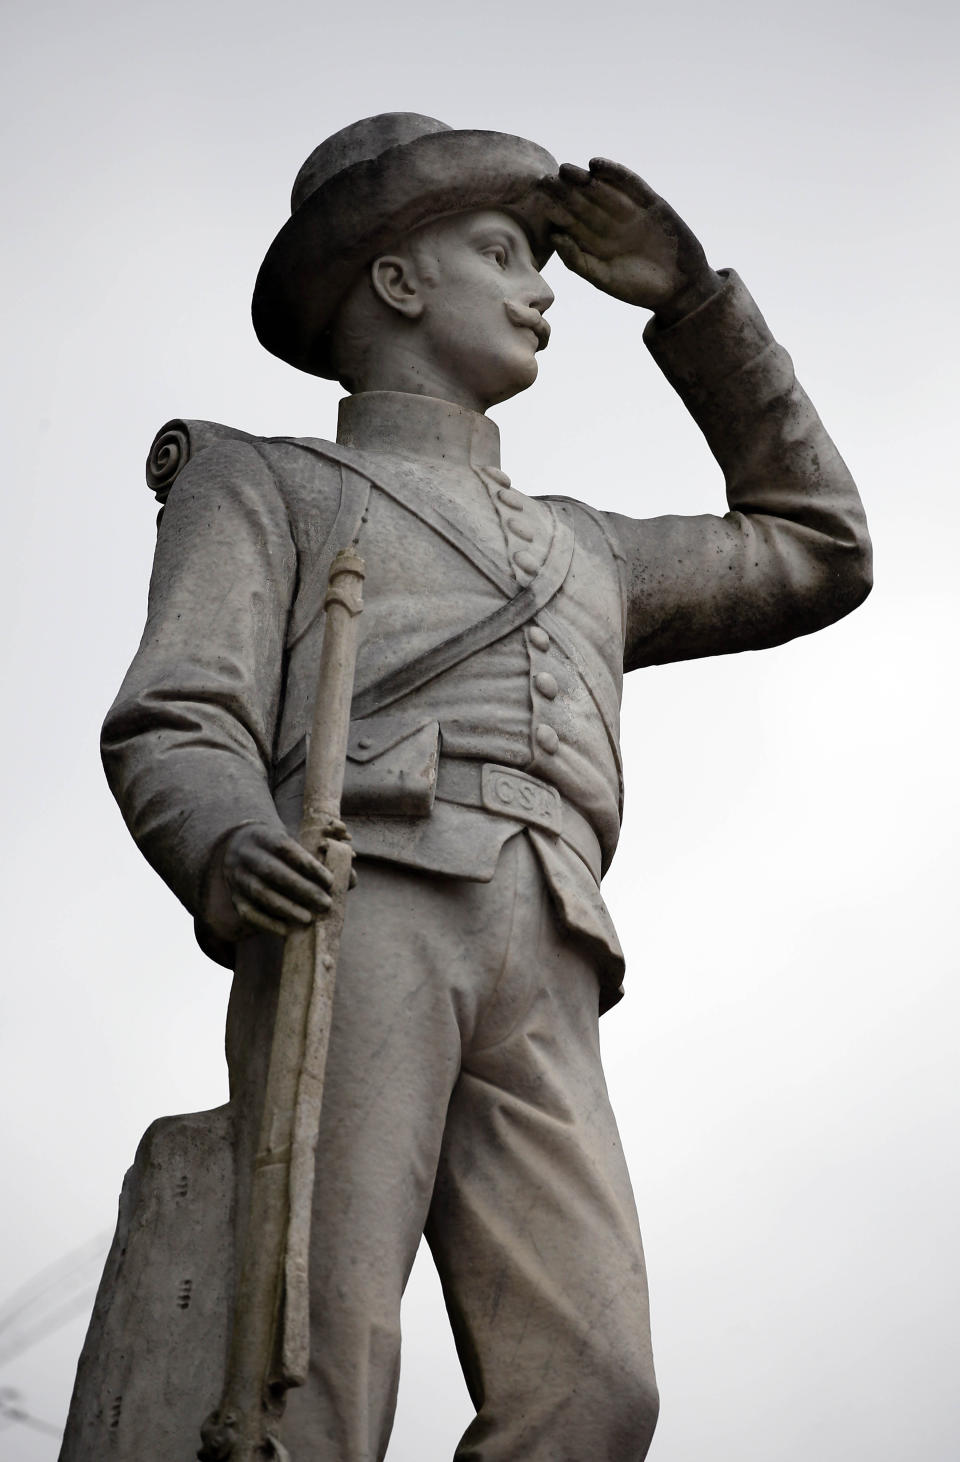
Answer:
<path fill-rule="evenodd" d="M 269 765 L 297 550 L 263 455 L 209 447 L 161 520 L 140 648 L 107 715 L 107 779 L 140 851 L 196 915 L 221 839 L 279 823 Z"/>

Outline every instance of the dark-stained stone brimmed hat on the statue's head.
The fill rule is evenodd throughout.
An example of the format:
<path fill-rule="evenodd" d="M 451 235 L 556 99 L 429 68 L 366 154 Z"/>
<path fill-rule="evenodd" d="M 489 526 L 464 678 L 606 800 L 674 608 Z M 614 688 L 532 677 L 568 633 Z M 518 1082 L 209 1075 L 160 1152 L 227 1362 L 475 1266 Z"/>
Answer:
<path fill-rule="evenodd" d="M 503 208 L 527 232 L 538 265 L 552 253 L 535 184 L 557 173 L 544 148 L 501 132 L 454 132 L 392 111 L 343 127 L 297 174 L 291 218 L 260 266 L 253 327 L 273 355 L 333 377 L 329 338 L 340 300 L 412 228 L 446 213 Z"/>

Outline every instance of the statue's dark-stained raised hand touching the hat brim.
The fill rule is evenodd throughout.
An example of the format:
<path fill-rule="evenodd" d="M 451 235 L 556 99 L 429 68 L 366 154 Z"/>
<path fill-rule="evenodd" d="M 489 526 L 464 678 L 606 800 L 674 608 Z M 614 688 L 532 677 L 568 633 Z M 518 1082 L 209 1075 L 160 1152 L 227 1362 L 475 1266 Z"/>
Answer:
<path fill-rule="evenodd" d="M 557 253 L 605 294 L 672 323 L 723 284 L 693 230 L 622 164 L 592 158 L 587 173 L 563 162 L 541 189 L 557 225 Z"/>

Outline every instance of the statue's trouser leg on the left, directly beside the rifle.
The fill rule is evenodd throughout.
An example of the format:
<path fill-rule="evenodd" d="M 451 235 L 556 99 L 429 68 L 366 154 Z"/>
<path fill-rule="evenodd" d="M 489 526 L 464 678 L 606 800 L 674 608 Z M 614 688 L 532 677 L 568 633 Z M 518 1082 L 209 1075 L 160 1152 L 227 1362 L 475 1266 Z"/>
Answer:
<path fill-rule="evenodd" d="M 400 1297 L 462 1042 L 498 987 L 516 904 L 516 851 L 492 883 L 359 867 L 317 1143 L 311 1367 L 307 1386 L 289 1393 L 283 1424 L 297 1462 L 378 1462 L 386 1452 Z"/>

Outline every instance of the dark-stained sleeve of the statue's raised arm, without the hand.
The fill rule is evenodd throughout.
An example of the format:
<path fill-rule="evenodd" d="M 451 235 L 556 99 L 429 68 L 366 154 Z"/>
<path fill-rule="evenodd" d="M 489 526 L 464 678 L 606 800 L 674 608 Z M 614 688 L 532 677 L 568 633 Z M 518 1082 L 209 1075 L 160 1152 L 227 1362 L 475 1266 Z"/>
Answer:
<path fill-rule="evenodd" d="M 644 341 L 726 481 L 719 518 L 609 513 L 624 553 L 624 665 L 764 649 L 842 618 L 871 588 L 853 480 L 735 273 Z"/>

